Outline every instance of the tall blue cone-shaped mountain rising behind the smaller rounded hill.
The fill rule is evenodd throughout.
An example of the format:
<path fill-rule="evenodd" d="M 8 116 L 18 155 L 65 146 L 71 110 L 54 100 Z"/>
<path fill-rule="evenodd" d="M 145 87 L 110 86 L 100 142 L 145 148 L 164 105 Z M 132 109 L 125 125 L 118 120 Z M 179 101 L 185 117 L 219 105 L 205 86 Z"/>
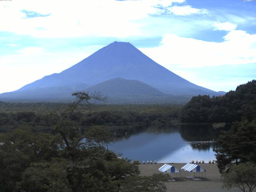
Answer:
<path fill-rule="evenodd" d="M 85 90 L 90 86 L 114 78 L 137 80 L 165 94 L 190 96 L 198 94 L 219 95 L 218 92 L 197 86 L 174 74 L 154 62 L 128 42 L 113 42 L 74 66 L 58 74 L 45 76 L 40 80 L 27 84 L 16 90 L 15 93 L 16 95 L 18 92 L 25 94 L 28 91 L 44 89 L 48 90 L 49 96 L 51 89 L 63 88 L 74 90 L 74 87 L 76 87 Z M 12 93 L 8 94 L 9 98 L 12 97 Z M 3 96 L 4 94 L 0 94 L 0 99 Z"/>

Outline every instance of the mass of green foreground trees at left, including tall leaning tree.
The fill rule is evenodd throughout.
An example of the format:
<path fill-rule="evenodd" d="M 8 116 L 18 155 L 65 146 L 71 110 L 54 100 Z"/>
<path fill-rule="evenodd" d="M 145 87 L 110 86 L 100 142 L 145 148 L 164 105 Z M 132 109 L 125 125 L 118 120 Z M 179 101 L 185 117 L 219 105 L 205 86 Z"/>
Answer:
<path fill-rule="evenodd" d="M 0 186 L 4 192 L 116 192 L 129 188 L 132 177 L 141 180 L 149 191 L 166 191 L 165 178 L 140 177 L 137 162 L 119 159 L 102 144 L 112 139 L 112 132 L 99 126 L 80 134 L 81 114 L 74 112 L 92 97 L 84 92 L 74 94 L 77 100 L 60 113 L 45 119 L 55 134 L 33 132 L 43 116 L 20 112 L 20 122 L 27 124 L 12 132 L 0 134 Z M 12 116 L 13 114 L 7 114 Z M 16 114 L 14 115 L 16 116 Z M 6 118 L 6 115 L 2 115 Z M 17 116 L 16 116 L 17 117 Z M 39 119 L 39 120 L 38 120 Z M 143 120 L 139 119 L 138 121 Z M 6 121 L 5 119 L 3 120 Z M 23 123 L 22 123 L 23 124 Z M 54 126 L 52 126 L 54 125 Z M 88 139 L 83 140 L 83 138 Z M 127 180 L 127 182 L 126 182 Z M 140 184 L 139 184 L 140 185 Z M 130 183 L 130 188 L 133 183 Z M 161 187 L 161 189 L 160 189 Z M 159 190 L 160 189 L 160 190 Z"/>

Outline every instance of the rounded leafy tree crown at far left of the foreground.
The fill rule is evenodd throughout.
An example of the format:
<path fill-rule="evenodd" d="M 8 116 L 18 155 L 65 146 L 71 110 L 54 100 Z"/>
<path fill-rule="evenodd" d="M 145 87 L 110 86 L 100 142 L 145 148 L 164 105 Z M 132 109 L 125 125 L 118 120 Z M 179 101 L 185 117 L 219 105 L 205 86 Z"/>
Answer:
<path fill-rule="evenodd" d="M 32 162 L 58 156 L 58 138 L 50 134 L 34 134 L 19 128 L 0 135 L 0 180 L 6 192 L 14 191 L 22 173 Z"/>

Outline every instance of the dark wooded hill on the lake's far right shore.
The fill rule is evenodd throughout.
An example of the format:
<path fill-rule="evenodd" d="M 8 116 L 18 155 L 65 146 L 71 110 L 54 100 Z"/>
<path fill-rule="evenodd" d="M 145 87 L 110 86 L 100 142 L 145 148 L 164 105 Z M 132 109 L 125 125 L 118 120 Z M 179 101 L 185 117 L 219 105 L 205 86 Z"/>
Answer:
<path fill-rule="evenodd" d="M 224 96 L 196 96 L 182 108 L 181 122 L 232 123 L 256 115 L 256 80 L 242 84 Z"/>

